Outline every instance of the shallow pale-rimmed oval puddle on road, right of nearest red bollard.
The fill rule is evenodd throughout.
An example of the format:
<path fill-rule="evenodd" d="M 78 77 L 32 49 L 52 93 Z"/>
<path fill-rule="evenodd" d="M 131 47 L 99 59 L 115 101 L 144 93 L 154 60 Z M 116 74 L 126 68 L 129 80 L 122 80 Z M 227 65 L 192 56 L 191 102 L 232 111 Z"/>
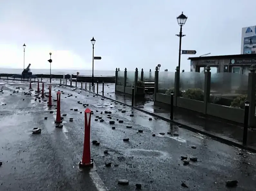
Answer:
<path fill-rule="evenodd" d="M 127 150 L 130 155 L 144 156 L 144 157 L 166 157 L 168 153 L 158 150 L 146 150 L 146 149 L 129 149 Z"/>

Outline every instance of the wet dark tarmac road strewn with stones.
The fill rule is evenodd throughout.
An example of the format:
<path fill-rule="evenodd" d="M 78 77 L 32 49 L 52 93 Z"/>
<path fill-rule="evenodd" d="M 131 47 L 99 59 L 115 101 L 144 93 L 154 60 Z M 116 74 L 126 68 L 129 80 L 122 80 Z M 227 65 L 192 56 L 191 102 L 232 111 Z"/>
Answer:
<path fill-rule="evenodd" d="M 67 116 L 63 128 L 58 129 L 54 125 L 55 107 L 51 114 L 46 102 L 34 101 L 34 91 L 31 96 L 22 93 L 28 92 L 27 82 L 0 82 L 5 83 L 4 94 L 0 92 L 0 161 L 3 162 L 0 190 L 94 191 L 106 190 L 105 186 L 109 190 L 135 190 L 135 184 L 140 183 L 142 190 L 147 191 L 249 191 L 256 186 L 255 154 L 159 119 L 149 120 L 151 116 L 145 113 L 69 87 L 52 87 L 54 99 L 57 90 L 64 92 L 61 111 Z M 16 87 L 21 87 L 19 93 L 13 93 Z M 68 94 L 72 96 L 67 97 Z M 90 173 L 78 169 L 83 149 L 85 109 L 78 101 L 89 104 L 87 107 L 94 111 L 91 140 L 100 142 L 99 146 L 91 145 L 97 171 L 94 169 Z M 105 111 L 111 112 L 112 119 L 107 118 Z M 129 116 L 132 112 L 134 117 Z M 95 121 L 96 116 L 104 121 Z M 48 119 L 44 120 L 44 117 Z M 69 118 L 73 118 L 73 122 L 69 122 Z M 124 122 L 119 123 L 117 119 Z M 110 120 L 115 124 L 110 125 Z M 42 133 L 32 135 L 33 127 L 40 127 Z M 138 129 L 143 132 L 138 133 Z M 160 135 L 161 132 L 165 135 Z M 174 136 L 175 133 L 179 136 Z M 129 138 L 129 141 L 123 142 L 123 138 Z M 104 150 L 108 150 L 108 154 L 104 154 Z M 197 157 L 198 161 L 183 165 L 181 155 Z M 111 167 L 105 166 L 106 161 L 111 162 Z M 128 179 L 129 185 L 118 185 L 119 179 Z M 238 186 L 226 188 L 228 179 L 238 180 Z M 182 182 L 188 188 L 182 187 Z"/>

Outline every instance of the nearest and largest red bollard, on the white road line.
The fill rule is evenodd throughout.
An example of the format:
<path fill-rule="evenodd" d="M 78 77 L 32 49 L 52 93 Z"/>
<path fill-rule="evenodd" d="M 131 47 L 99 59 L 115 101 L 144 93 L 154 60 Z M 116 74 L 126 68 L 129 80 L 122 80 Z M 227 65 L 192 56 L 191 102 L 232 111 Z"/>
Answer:
<path fill-rule="evenodd" d="M 86 108 L 84 111 L 84 145 L 83 158 L 79 162 L 79 167 L 93 167 L 93 159 L 91 159 L 90 152 L 90 126 L 91 126 L 91 110 Z"/>

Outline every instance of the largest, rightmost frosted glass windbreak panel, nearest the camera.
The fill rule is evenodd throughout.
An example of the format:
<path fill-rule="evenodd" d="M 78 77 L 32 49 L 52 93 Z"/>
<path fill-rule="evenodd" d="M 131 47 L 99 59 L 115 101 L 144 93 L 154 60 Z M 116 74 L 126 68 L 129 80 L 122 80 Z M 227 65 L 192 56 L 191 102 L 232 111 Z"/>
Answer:
<path fill-rule="evenodd" d="M 246 97 L 247 89 L 247 75 L 229 72 L 212 74 L 210 101 L 214 104 L 230 106 L 235 98 Z"/>

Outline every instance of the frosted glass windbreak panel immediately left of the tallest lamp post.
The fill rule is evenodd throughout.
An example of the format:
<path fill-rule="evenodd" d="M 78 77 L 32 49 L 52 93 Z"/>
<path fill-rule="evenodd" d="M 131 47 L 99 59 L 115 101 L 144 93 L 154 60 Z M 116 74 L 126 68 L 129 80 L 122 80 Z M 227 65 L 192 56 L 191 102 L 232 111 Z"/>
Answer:
<path fill-rule="evenodd" d="M 175 72 L 158 72 L 158 93 L 170 94 L 174 91 Z"/>

